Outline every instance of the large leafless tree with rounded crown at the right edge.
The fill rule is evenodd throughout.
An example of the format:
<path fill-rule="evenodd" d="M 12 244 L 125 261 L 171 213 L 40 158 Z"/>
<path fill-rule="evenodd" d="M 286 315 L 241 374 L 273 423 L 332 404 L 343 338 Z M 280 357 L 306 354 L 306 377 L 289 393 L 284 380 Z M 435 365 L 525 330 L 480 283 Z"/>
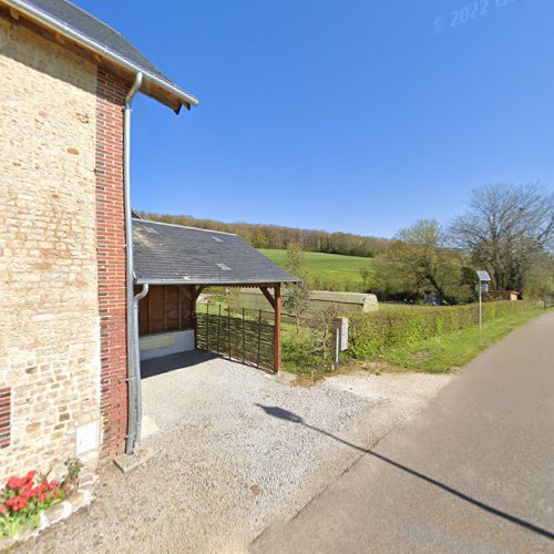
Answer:
<path fill-rule="evenodd" d="M 535 184 L 478 188 L 451 236 L 489 270 L 494 288 L 521 290 L 534 256 L 552 249 L 554 194 Z"/>

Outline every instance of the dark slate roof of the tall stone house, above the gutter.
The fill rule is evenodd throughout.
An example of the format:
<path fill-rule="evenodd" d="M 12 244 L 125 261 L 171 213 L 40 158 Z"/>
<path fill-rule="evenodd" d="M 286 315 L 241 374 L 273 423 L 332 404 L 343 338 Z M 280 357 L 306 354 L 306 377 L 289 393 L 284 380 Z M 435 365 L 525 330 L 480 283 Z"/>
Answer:
<path fill-rule="evenodd" d="M 100 19 L 91 16 L 83 9 L 66 0 L 13 0 L 10 2 L 18 6 L 23 12 L 25 7 L 39 13 L 53 18 L 80 35 L 93 41 L 98 47 L 109 51 L 120 58 L 131 62 L 137 71 L 142 71 L 146 76 L 157 78 L 175 92 L 181 92 L 196 101 L 194 96 L 177 86 L 168 76 L 162 73 L 146 57 L 133 47 L 119 31 L 104 23 Z M 197 102 L 197 101 L 196 101 Z"/>

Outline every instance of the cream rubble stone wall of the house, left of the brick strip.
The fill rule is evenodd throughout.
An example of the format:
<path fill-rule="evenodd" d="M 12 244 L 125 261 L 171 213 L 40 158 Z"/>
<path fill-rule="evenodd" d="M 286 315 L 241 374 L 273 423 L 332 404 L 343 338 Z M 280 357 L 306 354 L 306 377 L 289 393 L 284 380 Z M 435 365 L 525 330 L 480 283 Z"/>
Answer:
<path fill-rule="evenodd" d="M 0 75 L 3 479 L 74 455 L 78 429 L 98 434 L 100 325 L 96 68 L 0 19 Z"/>

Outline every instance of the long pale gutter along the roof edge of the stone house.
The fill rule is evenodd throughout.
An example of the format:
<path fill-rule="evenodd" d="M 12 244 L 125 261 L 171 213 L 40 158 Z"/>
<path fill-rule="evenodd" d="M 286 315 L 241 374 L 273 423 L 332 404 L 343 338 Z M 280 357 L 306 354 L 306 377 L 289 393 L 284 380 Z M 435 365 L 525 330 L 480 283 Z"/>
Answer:
<path fill-rule="evenodd" d="M 103 47 L 103 45 L 99 44 L 98 42 L 89 39 L 84 34 L 80 33 L 79 31 L 75 31 L 71 27 L 62 23 L 61 21 L 58 21 L 52 16 L 49 16 L 48 13 L 44 13 L 41 10 L 38 10 L 33 6 L 29 6 L 28 3 L 25 3 L 21 0 L 1 0 L 1 2 L 7 4 L 8 7 L 14 9 L 14 10 L 20 11 L 21 13 L 24 13 L 30 19 L 33 19 L 34 21 L 39 22 L 40 24 L 42 24 L 44 27 L 48 27 L 52 31 L 70 38 L 71 40 L 75 41 L 78 44 L 84 47 L 86 50 L 91 50 L 92 52 L 105 58 L 106 60 L 110 60 L 111 62 L 115 63 L 116 65 L 120 65 L 120 66 L 131 71 L 134 74 L 136 74 L 138 72 L 144 73 L 147 81 L 152 82 L 153 84 L 156 84 L 157 86 L 160 86 L 164 91 L 168 92 L 170 94 L 173 94 L 181 102 L 183 102 L 185 104 L 189 104 L 192 106 L 198 105 L 198 99 L 196 99 L 192 94 L 188 94 L 187 92 L 178 89 L 177 86 L 175 86 L 171 83 L 167 83 L 163 79 L 160 79 L 157 75 L 154 75 L 152 73 L 148 73 L 147 71 L 144 71 L 143 69 L 135 65 L 133 62 L 129 61 L 126 58 L 122 58 L 121 55 L 116 54 L 115 52 L 112 52 L 106 47 Z"/>

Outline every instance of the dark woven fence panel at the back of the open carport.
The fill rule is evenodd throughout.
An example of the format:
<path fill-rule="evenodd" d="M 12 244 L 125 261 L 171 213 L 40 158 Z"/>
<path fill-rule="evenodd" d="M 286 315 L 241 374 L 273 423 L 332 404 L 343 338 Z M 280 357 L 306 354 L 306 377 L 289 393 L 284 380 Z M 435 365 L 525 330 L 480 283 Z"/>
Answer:
<path fill-rule="evenodd" d="M 199 305 L 196 348 L 275 371 L 274 314 Z"/>

